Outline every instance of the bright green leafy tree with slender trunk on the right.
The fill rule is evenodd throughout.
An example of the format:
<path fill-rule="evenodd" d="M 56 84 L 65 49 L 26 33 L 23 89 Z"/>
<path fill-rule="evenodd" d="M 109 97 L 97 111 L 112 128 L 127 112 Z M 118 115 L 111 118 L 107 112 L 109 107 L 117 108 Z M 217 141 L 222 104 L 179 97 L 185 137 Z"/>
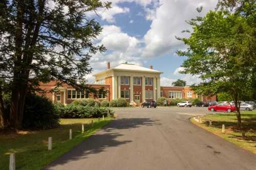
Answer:
<path fill-rule="evenodd" d="M 184 74 L 199 75 L 197 93 L 225 92 L 232 97 L 241 129 L 240 103 L 248 99 L 255 80 L 255 1 L 225 0 L 216 11 L 187 21 L 193 27 L 189 38 L 179 38 L 188 48 Z M 189 32 L 189 31 L 186 31 Z"/>

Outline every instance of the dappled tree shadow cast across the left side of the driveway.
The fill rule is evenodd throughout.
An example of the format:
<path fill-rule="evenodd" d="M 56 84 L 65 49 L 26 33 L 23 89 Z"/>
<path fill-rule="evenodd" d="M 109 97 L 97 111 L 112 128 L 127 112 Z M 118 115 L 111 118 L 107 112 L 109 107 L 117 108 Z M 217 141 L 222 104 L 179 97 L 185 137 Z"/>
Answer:
<path fill-rule="evenodd" d="M 57 160 L 50 163 L 43 169 L 55 169 L 57 165 L 66 164 L 73 161 L 84 160 L 90 157 L 92 154 L 98 154 L 106 151 L 110 147 L 118 147 L 119 145 L 132 142 L 133 140 L 118 140 L 118 137 L 123 136 L 122 129 L 135 129 L 143 126 L 156 125 L 157 119 L 150 118 L 120 118 L 112 120 L 108 125 L 101 129 L 98 133 L 95 133 L 87 140 L 84 140 L 80 144 L 76 145 L 71 151 L 59 157 Z M 120 130 L 120 132 L 115 131 Z"/>

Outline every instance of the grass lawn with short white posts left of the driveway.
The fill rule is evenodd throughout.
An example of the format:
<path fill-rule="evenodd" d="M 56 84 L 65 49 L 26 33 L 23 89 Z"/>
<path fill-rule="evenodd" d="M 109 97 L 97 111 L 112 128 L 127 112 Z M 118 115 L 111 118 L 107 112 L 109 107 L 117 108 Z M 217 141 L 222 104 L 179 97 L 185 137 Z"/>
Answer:
<path fill-rule="evenodd" d="M 90 125 L 92 120 L 93 127 Z M 9 169 L 10 153 L 15 153 L 16 169 L 41 169 L 110 121 L 108 118 L 100 122 L 98 118 L 60 119 L 61 126 L 56 129 L 0 134 L 0 169 Z M 83 134 L 82 124 L 86 124 Z M 72 140 L 69 140 L 69 129 L 73 131 Z M 53 138 L 52 151 L 48 151 L 48 137 Z"/>

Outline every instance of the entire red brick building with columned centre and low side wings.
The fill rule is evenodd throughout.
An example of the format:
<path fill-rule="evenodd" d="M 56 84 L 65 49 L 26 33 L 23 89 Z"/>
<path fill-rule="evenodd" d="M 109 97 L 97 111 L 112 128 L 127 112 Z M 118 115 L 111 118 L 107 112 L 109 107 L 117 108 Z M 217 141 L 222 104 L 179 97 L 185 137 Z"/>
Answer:
<path fill-rule="evenodd" d="M 90 86 L 108 90 L 106 95 L 99 94 L 98 100 L 108 100 L 124 98 L 127 102 L 134 101 L 142 103 L 151 101 L 164 96 L 165 98 L 199 98 L 202 101 L 216 101 L 216 96 L 207 97 L 197 95 L 190 87 L 161 86 L 160 75 L 163 72 L 150 68 L 138 66 L 135 64 L 121 63 L 115 67 L 110 67 L 108 62 L 106 70 L 100 71 L 94 75 L 95 83 Z M 48 98 L 54 102 L 69 104 L 74 100 L 94 98 L 87 91 L 77 91 L 69 85 L 58 87 L 58 92 L 51 93 L 55 88 L 55 82 L 41 84 L 40 88 L 47 91 Z"/>

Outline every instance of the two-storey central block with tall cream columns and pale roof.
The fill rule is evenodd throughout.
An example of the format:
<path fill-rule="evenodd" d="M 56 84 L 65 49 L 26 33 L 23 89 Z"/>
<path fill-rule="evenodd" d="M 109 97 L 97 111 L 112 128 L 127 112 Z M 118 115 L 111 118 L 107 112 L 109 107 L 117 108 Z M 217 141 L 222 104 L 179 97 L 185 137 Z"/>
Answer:
<path fill-rule="evenodd" d="M 135 64 L 121 63 L 95 74 L 96 84 L 110 85 L 111 99 L 124 98 L 141 103 L 160 98 L 160 74 L 162 72 Z"/>

